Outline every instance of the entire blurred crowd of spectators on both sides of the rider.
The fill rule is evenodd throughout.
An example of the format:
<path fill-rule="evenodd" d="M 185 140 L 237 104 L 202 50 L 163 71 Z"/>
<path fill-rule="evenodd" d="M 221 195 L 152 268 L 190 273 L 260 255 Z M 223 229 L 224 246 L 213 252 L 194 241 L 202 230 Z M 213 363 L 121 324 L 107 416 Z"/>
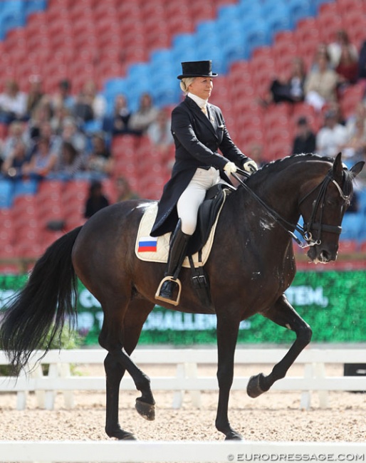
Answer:
<path fill-rule="evenodd" d="M 332 43 L 319 43 L 308 69 L 302 57 L 293 58 L 290 75 L 273 78 L 259 103 L 268 108 L 305 102 L 323 118 L 315 132 L 306 115 L 300 115 L 293 154 L 334 156 L 343 151 L 346 160 L 365 160 L 366 98 L 348 118 L 343 118 L 339 104 L 347 88 L 365 78 L 366 41 L 358 51 L 346 31 L 340 30 Z M 67 79 L 60 81 L 52 95 L 43 92 L 40 76 L 31 76 L 28 93 L 19 89 L 16 80 L 8 80 L 0 93 L 0 124 L 7 132 L 0 142 L 1 175 L 16 180 L 115 176 L 110 147 L 117 135 L 147 137 L 162 153 L 171 151 L 169 112 L 157 108 L 149 93 L 141 95 L 135 111 L 129 108 L 128 95 L 117 95 L 113 103 L 109 113 L 108 102 L 92 80 L 85 82 L 78 95 L 72 93 Z M 249 155 L 252 148 L 261 163 L 258 146 L 243 147 Z"/>

